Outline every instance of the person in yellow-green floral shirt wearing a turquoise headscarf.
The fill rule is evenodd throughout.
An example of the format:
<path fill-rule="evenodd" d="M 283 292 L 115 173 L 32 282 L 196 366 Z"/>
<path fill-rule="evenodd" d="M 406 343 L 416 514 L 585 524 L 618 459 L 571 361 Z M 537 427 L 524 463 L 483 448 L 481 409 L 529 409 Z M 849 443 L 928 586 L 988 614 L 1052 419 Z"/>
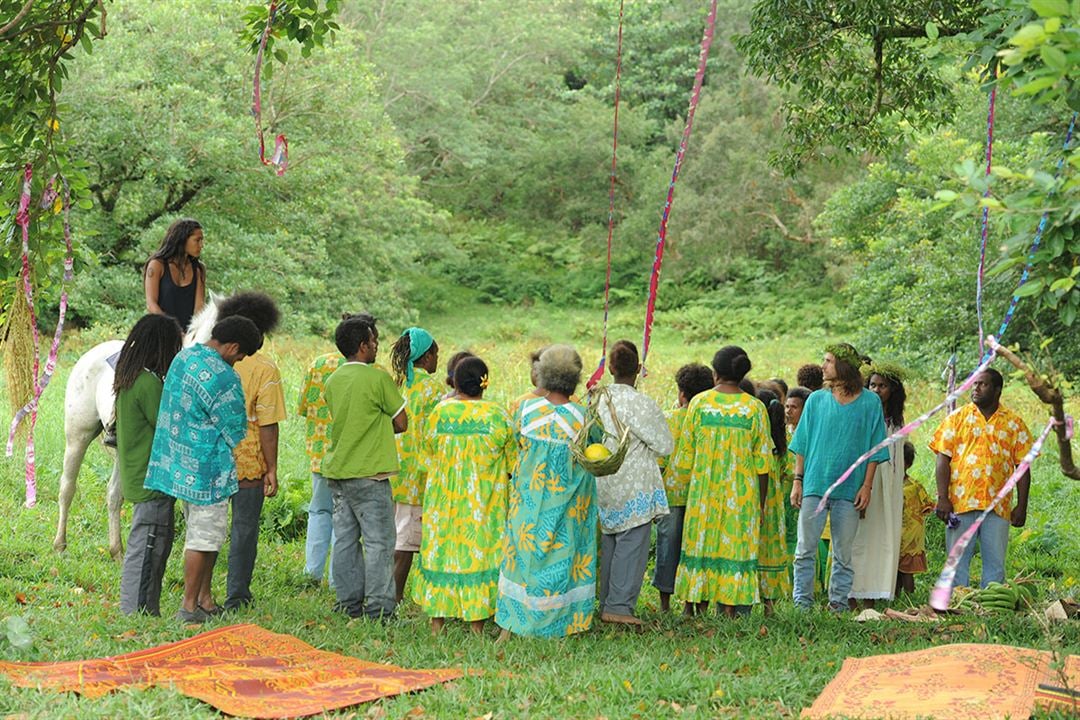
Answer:
<path fill-rule="evenodd" d="M 443 399 L 438 369 L 438 344 L 420 327 L 406 328 L 390 351 L 394 382 L 405 396 L 408 430 L 397 436 L 401 470 L 390 478 L 394 498 L 394 590 L 397 602 L 405 596 L 413 558 L 420 552 L 423 487 L 428 471 L 420 457 L 428 413 Z"/>

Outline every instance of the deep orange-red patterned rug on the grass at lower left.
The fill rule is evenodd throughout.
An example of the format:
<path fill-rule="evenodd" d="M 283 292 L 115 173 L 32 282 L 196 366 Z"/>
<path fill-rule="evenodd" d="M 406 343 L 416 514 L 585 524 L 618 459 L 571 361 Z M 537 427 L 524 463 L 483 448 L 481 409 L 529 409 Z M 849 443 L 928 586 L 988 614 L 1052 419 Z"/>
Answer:
<path fill-rule="evenodd" d="M 21 688 L 99 697 L 124 687 L 173 687 L 229 715 L 296 718 L 461 677 L 461 670 L 407 670 L 315 650 L 258 625 L 231 625 L 114 657 L 69 663 L 4 663 Z"/>

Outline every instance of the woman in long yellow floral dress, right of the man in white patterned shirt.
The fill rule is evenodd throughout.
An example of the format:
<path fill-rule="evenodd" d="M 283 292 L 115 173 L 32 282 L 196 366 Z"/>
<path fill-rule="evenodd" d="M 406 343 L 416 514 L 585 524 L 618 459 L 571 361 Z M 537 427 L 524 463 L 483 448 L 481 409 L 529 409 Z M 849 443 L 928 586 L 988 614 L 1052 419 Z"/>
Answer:
<path fill-rule="evenodd" d="M 769 481 L 765 406 L 739 389 L 751 370 L 735 345 L 713 357 L 716 388 L 690 402 L 674 464 L 689 477 L 675 595 L 685 614 L 717 602 L 728 616 L 759 597 L 757 548 Z"/>

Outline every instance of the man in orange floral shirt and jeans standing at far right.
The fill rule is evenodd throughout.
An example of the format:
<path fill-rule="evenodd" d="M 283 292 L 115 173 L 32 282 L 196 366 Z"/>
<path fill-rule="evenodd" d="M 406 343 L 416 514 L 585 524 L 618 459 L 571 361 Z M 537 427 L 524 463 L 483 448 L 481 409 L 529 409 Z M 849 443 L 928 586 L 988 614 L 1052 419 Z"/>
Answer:
<path fill-rule="evenodd" d="M 930 449 L 937 453 L 937 517 L 958 521 L 945 531 L 945 542 L 953 547 L 975 519 L 989 507 L 995 495 L 1031 448 L 1031 436 L 1018 415 L 1001 405 L 1004 381 L 997 370 L 987 369 L 975 377 L 971 403 L 957 409 L 941 424 Z M 1024 527 L 1027 521 L 1027 493 L 1030 471 L 1016 484 L 1016 506 L 1012 498 L 1001 501 L 986 516 L 976 534 L 983 557 L 982 586 L 1003 582 L 1009 526 Z M 956 584 L 968 585 L 969 566 L 975 543 L 968 545 L 956 569 Z"/>

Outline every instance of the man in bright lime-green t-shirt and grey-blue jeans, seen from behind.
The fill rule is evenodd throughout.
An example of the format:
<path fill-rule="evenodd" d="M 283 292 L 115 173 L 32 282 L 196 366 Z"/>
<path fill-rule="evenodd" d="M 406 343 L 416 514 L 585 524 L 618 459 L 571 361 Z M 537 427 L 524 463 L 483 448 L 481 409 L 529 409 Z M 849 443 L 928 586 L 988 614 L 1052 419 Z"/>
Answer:
<path fill-rule="evenodd" d="M 405 399 L 393 379 L 373 367 L 379 350 L 375 318 L 353 315 L 334 334 L 345 363 L 326 380 L 330 447 L 323 475 L 334 497 L 334 588 L 350 617 L 387 617 L 394 611 L 394 434 L 408 425 Z M 361 547 L 363 539 L 363 548 Z"/>

